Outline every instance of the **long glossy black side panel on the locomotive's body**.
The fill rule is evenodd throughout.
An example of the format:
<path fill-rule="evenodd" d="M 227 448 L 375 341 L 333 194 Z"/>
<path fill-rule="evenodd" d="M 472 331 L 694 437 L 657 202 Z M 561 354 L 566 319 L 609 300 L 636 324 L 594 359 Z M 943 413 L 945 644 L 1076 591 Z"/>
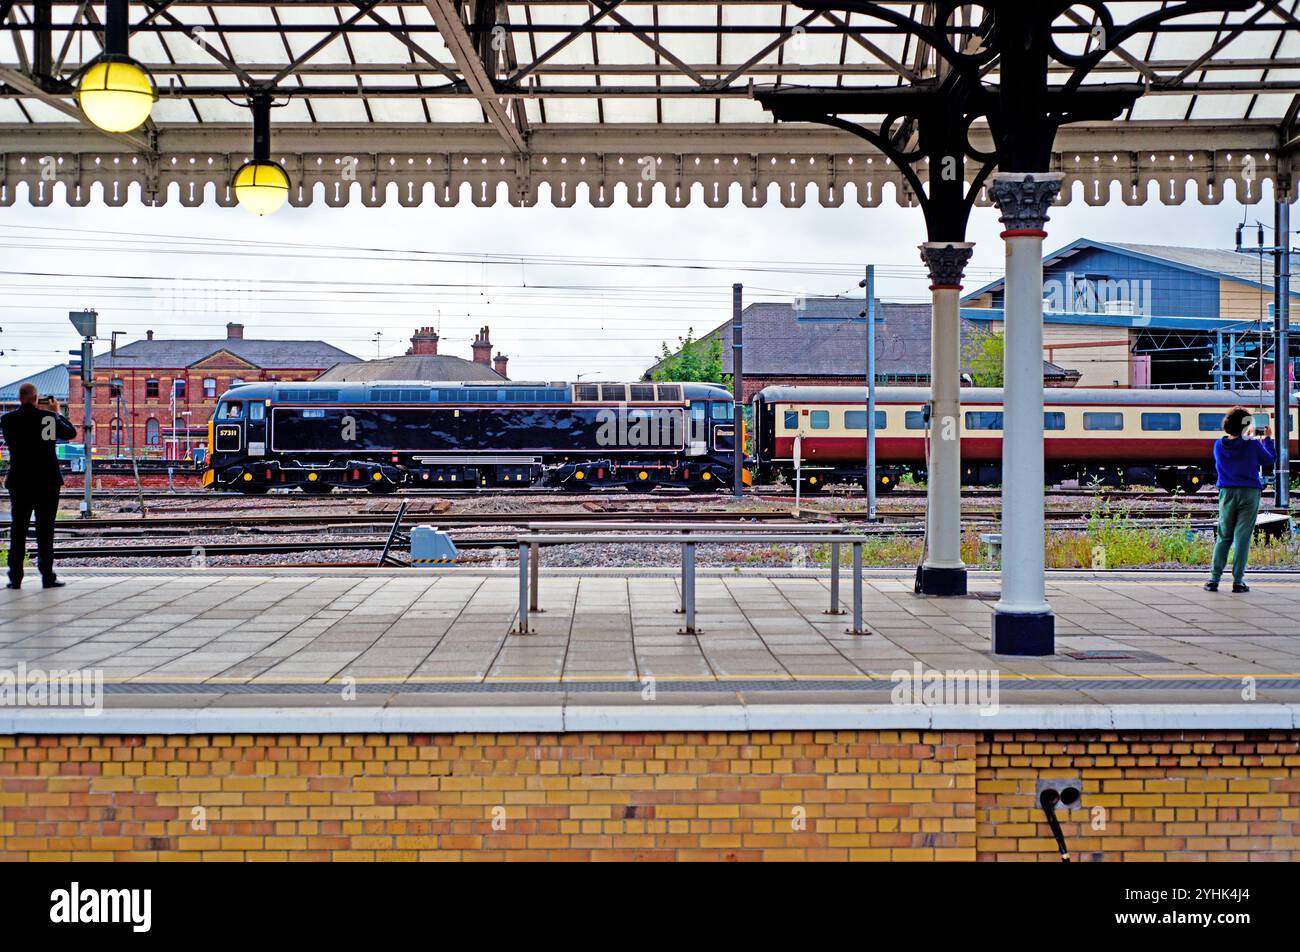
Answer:
<path fill-rule="evenodd" d="M 680 407 L 276 407 L 276 453 L 680 450 Z"/>

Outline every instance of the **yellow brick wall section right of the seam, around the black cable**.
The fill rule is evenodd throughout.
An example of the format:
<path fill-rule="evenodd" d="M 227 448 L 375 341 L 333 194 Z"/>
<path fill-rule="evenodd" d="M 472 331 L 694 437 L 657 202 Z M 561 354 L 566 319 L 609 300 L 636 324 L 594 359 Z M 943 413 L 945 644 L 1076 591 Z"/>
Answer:
<path fill-rule="evenodd" d="M 1083 783 L 1072 861 L 1300 860 L 1296 732 L 992 734 L 978 760 L 980 860 L 1060 862 L 1039 778 Z"/>

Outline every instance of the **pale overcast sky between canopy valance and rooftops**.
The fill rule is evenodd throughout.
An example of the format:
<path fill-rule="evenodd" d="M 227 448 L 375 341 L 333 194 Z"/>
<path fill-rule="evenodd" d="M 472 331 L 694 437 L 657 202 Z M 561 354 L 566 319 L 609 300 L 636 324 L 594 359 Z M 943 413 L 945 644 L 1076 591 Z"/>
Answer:
<path fill-rule="evenodd" d="M 1264 202 L 1245 208 L 1230 199 L 1213 207 L 1075 202 L 1054 209 L 1046 247 L 1088 237 L 1227 248 L 1243 216 L 1271 225 L 1270 202 L 1268 185 Z M 998 230 L 994 209 L 975 209 L 967 289 L 1001 274 Z M 441 352 L 468 358 L 486 324 L 516 380 L 636 378 L 662 341 L 727 320 L 737 281 L 748 303 L 858 294 L 861 268 L 874 263 L 880 298 L 927 299 L 916 254 L 923 238 L 919 209 L 848 200 L 800 209 L 775 202 L 759 209 L 740 202 L 722 209 L 592 208 L 581 199 L 564 209 L 354 202 L 256 218 L 211 204 L 32 208 L 20 192 L 0 208 L 0 382 L 65 360 L 78 343 L 68 311 L 83 307 L 99 311 L 103 337 L 124 332 L 118 342 L 150 328 L 157 337 L 224 337 L 233 320 L 247 337 L 320 338 L 364 358 L 404 352 L 412 330 L 426 324 L 439 328 Z M 358 247 L 370 251 L 347 250 Z M 463 258 L 436 260 L 447 252 Z M 651 259 L 671 267 L 641 267 Z M 107 347 L 107 339 L 98 346 Z"/>

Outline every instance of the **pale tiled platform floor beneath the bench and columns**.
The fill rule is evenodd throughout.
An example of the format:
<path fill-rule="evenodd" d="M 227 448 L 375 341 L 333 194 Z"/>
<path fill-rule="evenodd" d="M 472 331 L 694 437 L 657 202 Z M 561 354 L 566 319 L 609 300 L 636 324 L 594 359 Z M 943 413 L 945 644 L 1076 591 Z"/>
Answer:
<path fill-rule="evenodd" d="M 101 670 L 114 685 L 109 702 L 124 706 L 318 704 L 346 678 L 372 704 L 402 702 L 412 691 L 425 705 L 454 704 L 458 692 L 520 704 L 536 692 L 592 694 L 606 681 L 632 688 L 645 678 L 689 692 L 692 702 L 707 691 L 732 700 L 771 692 L 783 704 L 879 700 L 890 674 L 914 663 L 996 670 L 1014 688 L 1004 702 L 1222 702 L 1236 700 L 1247 676 L 1260 700 L 1300 701 L 1300 577 L 1286 575 L 1256 574 L 1247 596 L 1202 592 L 1193 574 L 1052 575 L 1058 654 L 1049 658 L 992 655 L 991 598 L 918 598 L 907 572 L 868 572 L 874 633 L 864 637 L 845 632 L 846 615 L 824 614 L 827 581 L 811 575 L 701 572 L 701 633 L 686 636 L 672 611 L 672 574 L 554 570 L 542 577 L 537 633 L 526 637 L 508 635 L 512 572 L 64 577 L 58 590 L 0 590 L 0 670 Z M 972 575 L 975 593 L 996 585 L 994 575 Z M 850 596 L 848 584 L 841 594 Z M 1066 654 L 1079 650 L 1130 657 Z M 332 687 L 304 691 L 324 683 Z"/>

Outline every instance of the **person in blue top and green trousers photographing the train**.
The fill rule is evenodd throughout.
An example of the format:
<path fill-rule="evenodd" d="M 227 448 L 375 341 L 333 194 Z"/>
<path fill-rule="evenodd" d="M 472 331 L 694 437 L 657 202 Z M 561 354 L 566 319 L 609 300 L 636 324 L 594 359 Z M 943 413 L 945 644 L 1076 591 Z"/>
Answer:
<path fill-rule="evenodd" d="M 1223 417 L 1223 433 L 1214 442 L 1214 468 L 1218 471 L 1219 532 L 1214 544 L 1214 562 L 1206 592 L 1218 592 L 1218 581 L 1232 550 L 1232 590 L 1249 592 L 1245 584 L 1245 563 L 1251 555 L 1251 537 L 1254 518 L 1260 514 L 1260 496 L 1264 480 L 1260 467 L 1271 471 L 1277 462 L 1277 447 L 1268 427 L 1264 437 L 1254 438 L 1254 417 L 1245 407 L 1232 407 Z"/>

